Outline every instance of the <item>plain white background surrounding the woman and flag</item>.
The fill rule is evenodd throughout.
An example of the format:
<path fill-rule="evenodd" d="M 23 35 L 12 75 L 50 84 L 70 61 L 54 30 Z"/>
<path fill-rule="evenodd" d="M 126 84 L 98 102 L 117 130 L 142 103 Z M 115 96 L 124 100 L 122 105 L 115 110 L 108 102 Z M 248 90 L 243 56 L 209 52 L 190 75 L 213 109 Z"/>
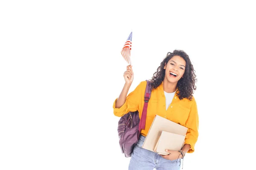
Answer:
<path fill-rule="evenodd" d="M 199 137 L 184 170 L 252 170 L 253 1 L 0 2 L 0 169 L 127 170 L 113 102 L 131 30 L 134 82 L 184 50 L 198 78 Z"/>

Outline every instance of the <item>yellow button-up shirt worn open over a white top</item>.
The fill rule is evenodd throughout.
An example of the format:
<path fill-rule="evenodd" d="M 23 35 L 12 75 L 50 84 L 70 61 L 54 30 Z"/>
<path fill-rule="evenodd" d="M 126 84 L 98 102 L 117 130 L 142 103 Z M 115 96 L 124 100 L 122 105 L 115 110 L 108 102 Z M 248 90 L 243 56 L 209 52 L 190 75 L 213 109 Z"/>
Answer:
<path fill-rule="evenodd" d="M 122 105 L 121 108 L 116 108 L 116 99 L 113 103 L 114 115 L 121 117 L 130 111 L 139 111 L 141 117 L 144 105 L 146 84 L 146 81 L 140 82 L 135 90 L 128 94 L 125 104 Z M 141 134 L 143 136 L 147 135 L 156 114 L 187 127 L 188 131 L 185 137 L 185 144 L 190 144 L 191 146 L 191 149 L 188 151 L 188 153 L 194 152 L 195 143 L 198 139 L 199 123 L 197 105 L 194 97 L 192 101 L 189 99 L 180 100 L 177 94 L 175 94 L 174 98 L 172 99 L 172 103 L 169 105 L 166 111 L 166 99 L 162 82 L 161 85 L 159 85 L 151 92 L 151 97 L 148 101 L 145 130 L 141 130 Z"/>

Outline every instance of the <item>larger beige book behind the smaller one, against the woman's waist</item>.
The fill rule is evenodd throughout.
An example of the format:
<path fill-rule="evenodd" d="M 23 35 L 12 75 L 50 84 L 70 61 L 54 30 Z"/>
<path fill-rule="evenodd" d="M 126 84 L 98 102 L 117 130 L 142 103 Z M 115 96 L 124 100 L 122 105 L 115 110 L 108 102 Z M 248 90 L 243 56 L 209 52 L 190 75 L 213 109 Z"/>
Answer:
<path fill-rule="evenodd" d="M 148 135 L 146 136 L 142 147 L 144 149 L 151 150 L 152 152 L 154 152 L 154 147 L 156 146 L 162 131 L 175 133 L 181 136 L 186 136 L 187 130 L 187 127 L 184 127 L 180 124 L 177 124 L 166 118 L 156 115 L 151 124 L 151 127 L 149 128 Z"/>

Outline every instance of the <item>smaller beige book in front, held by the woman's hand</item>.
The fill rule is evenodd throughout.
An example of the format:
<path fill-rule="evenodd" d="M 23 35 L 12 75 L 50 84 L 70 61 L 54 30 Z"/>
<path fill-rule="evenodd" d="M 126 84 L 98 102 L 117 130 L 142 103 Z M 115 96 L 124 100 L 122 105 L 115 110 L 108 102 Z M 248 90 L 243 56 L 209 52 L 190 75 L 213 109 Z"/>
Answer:
<path fill-rule="evenodd" d="M 183 135 L 162 131 L 154 151 L 160 155 L 168 155 L 169 153 L 165 151 L 166 149 L 180 150 L 184 145 L 184 140 L 185 136 Z"/>

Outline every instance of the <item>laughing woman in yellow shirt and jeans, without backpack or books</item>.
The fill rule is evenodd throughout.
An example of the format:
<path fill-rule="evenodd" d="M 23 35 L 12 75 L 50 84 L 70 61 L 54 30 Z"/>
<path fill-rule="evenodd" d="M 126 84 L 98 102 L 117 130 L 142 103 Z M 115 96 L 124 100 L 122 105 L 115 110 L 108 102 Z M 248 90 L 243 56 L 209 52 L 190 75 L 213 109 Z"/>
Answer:
<path fill-rule="evenodd" d="M 184 51 L 169 52 L 163 59 L 151 79 L 152 91 L 145 129 L 141 130 L 139 141 L 134 147 L 129 170 L 179 170 L 181 158 L 186 153 L 194 152 L 198 139 L 198 111 L 192 95 L 196 90 L 195 77 L 193 65 Z M 146 81 L 140 82 L 127 96 L 134 79 L 131 65 L 127 66 L 124 78 L 125 85 L 113 104 L 114 115 L 121 117 L 129 111 L 139 111 L 141 117 Z M 164 156 L 142 148 L 156 114 L 188 128 L 185 144 L 179 151 L 167 150 L 170 154 Z"/>

